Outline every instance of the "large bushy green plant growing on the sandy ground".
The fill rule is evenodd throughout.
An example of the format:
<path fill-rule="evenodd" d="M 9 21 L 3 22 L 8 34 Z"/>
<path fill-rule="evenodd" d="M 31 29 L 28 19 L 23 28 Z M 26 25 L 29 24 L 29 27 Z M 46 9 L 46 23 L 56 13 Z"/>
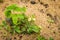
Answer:
<path fill-rule="evenodd" d="M 13 13 L 12 13 L 13 11 Z M 14 14 L 14 11 L 20 14 Z M 29 17 L 24 13 L 25 7 L 18 7 L 16 4 L 8 6 L 5 10 L 6 20 L 2 22 L 5 29 L 10 33 L 39 33 L 40 28 L 34 23 L 33 20 L 28 21 Z M 31 17 L 33 19 L 33 17 Z"/>

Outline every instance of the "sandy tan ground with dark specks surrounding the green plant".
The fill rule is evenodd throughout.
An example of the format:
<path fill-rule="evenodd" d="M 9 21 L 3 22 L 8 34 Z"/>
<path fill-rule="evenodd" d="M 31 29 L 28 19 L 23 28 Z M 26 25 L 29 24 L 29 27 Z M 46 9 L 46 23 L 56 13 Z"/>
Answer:
<path fill-rule="evenodd" d="M 4 20 L 4 10 L 8 5 L 17 4 L 19 6 L 27 7 L 26 15 L 35 14 L 36 24 L 42 26 L 41 35 L 49 38 L 53 37 L 54 40 L 60 40 L 60 0 L 34 0 L 36 3 L 31 4 L 32 0 L 4 0 L 0 3 L 0 22 Z M 55 22 L 48 23 L 48 16 Z M 4 34 L 6 38 L 12 40 L 35 40 L 36 35 L 10 35 L 5 30 L 0 30 L 0 40 L 8 40 L 2 37 Z M 21 38 L 22 37 L 22 38 Z"/>

